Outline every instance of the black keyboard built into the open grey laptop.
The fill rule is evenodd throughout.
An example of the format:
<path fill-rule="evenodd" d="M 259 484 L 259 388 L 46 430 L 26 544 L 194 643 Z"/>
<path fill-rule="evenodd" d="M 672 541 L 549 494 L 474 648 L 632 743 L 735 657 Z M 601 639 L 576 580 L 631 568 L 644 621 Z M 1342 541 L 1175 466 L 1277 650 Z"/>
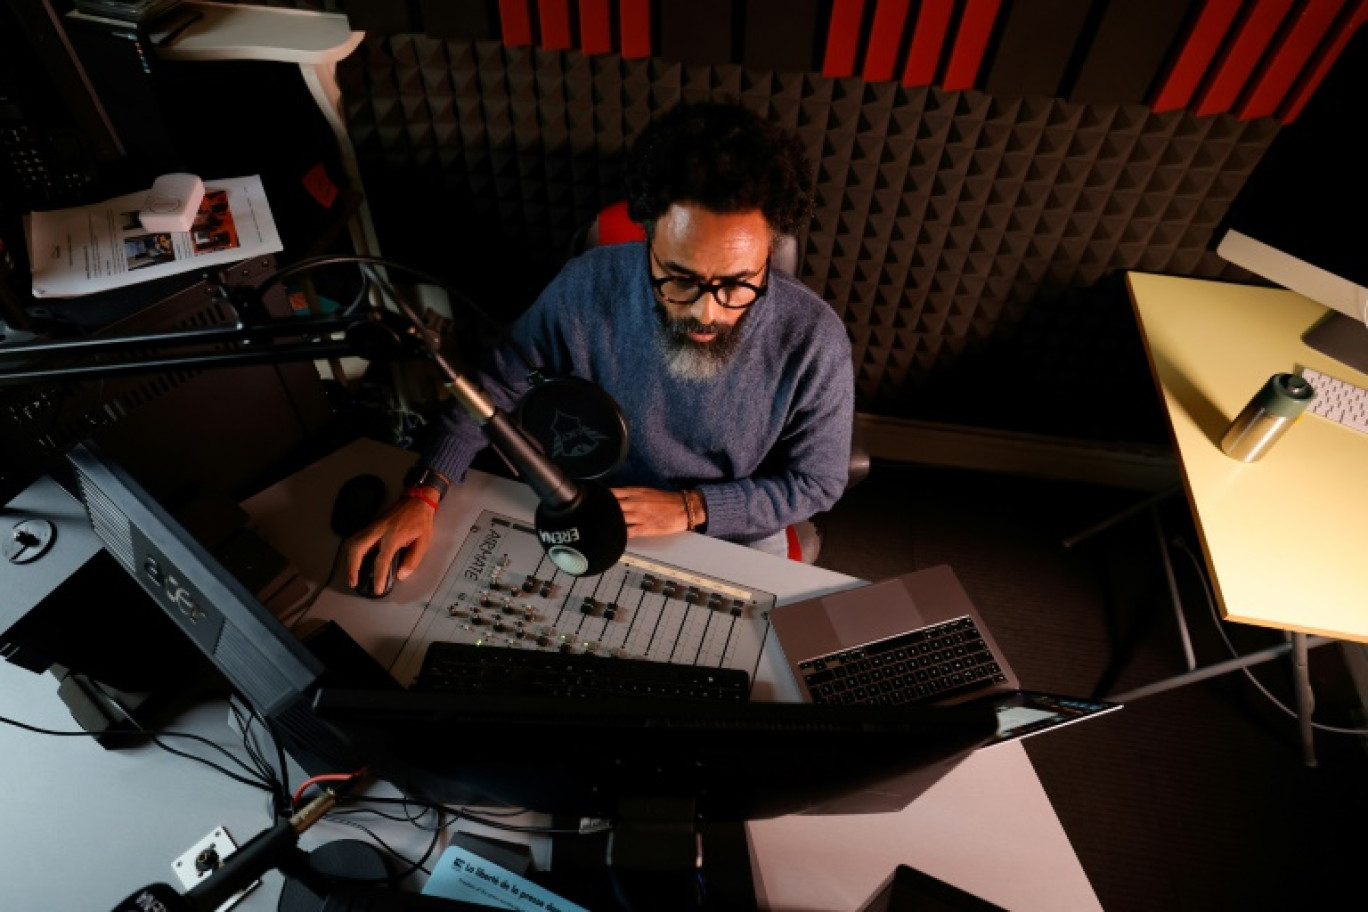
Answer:
<path fill-rule="evenodd" d="M 978 625 L 963 617 L 800 662 L 813 703 L 897 706 L 1007 681 Z"/>

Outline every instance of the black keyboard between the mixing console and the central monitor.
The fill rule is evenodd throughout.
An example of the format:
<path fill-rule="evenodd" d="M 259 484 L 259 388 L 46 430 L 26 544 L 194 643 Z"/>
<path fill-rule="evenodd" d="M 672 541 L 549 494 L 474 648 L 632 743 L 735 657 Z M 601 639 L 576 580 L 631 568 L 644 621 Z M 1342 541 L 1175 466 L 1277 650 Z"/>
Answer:
<path fill-rule="evenodd" d="M 410 689 L 503 696 L 746 700 L 750 675 L 740 669 L 432 643 Z"/>

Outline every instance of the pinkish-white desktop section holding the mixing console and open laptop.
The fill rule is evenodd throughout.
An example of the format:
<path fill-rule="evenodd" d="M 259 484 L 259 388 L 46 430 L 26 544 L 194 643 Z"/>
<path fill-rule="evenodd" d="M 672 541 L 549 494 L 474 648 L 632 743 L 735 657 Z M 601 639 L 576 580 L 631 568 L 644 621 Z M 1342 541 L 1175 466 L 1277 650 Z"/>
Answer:
<path fill-rule="evenodd" d="M 412 461 L 412 454 L 358 440 L 244 506 L 265 537 L 316 580 L 327 573 L 335 540 L 300 540 L 297 531 L 326 528 L 332 492 L 360 472 L 379 474 L 397 494 Z M 523 485 L 472 472 L 443 502 L 428 559 L 383 607 L 334 587 L 315 611 L 337 619 L 368 649 L 384 648 L 395 630 L 412 626 L 406 615 L 421 610 L 439 584 L 450 559 L 442 555 L 456 554 L 479 506 L 527 520 L 535 499 Z M 862 582 L 692 533 L 633 540 L 628 550 L 772 592 L 781 604 Z M 777 648 L 766 654 L 757 690 L 796 700 L 788 674 L 777 671 L 784 667 L 778 658 Z M 1100 908 L 1019 742 L 979 751 L 899 814 L 791 816 L 751 823 L 750 833 L 757 886 L 776 911 L 858 909 L 899 863 L 1014 911 Z"/>

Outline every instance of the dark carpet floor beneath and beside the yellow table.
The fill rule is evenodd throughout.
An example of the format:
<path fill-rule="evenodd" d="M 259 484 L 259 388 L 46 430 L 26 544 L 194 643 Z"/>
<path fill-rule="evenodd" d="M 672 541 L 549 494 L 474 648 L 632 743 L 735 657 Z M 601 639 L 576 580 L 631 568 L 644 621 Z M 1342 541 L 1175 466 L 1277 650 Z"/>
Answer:
<path fill-rule="evenodd" d="M 1201 665 L 1283 641 L 1215 619 L 1182 496 L 1066 547 L 1144 499 L 1096 485 L 876 464 L 819 517 L 818 565 L 882 580 L 951 565 L 1022 685 L 1108 695 L 1185 670 L 1160 561 L 1172 559 Z M 1161 537 L 1156 535 L 1161 529 Z M 1357 647 L 1356 647 L 1357 648 Z M 1025 741 L 1103 908 L 1361 908 L 1368 752 L 1316 732 L 1302 763 L 1286 659 L 1142 697 Z M 1311 654 L 1315 719 L 1365 727 L 1339 644 Z M 1360 900 L 1345 901 L 1345 897 Z"/>

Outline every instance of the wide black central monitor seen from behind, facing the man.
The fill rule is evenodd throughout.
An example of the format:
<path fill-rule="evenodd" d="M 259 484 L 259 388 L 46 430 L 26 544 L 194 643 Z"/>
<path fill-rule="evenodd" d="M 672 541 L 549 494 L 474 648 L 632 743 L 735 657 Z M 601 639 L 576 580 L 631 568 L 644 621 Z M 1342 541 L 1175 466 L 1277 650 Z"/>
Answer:
<path fill-rule="evenodd" d="M 640 797 L 691 800 L 707 820 L 900 809 L 997 730 L 977 706 L 327 688 L 315 706 L 417 794 L 607 819 Z"/>

